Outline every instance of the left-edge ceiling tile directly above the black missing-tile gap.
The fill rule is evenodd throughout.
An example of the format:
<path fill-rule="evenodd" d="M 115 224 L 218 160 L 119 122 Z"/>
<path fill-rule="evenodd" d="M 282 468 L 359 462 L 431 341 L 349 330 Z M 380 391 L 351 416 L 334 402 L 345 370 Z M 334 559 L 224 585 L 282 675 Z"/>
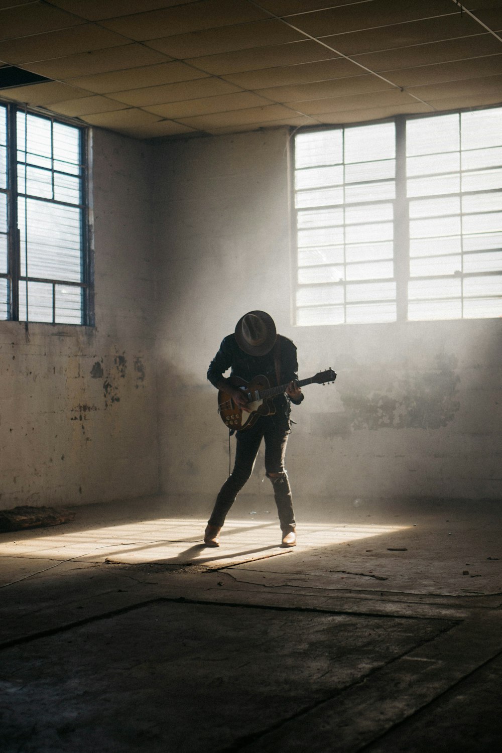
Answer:
<path fill-rule="evenodd" d="M 47 34 L 35 34 L 22 39 L 0 42 L 0 58 L 17 65 L 62 57 L 78 52 L 101 50 L 124 43 L 124 38 L 93 23 L 84 23 L 71 29 L 61 29 Z"/>

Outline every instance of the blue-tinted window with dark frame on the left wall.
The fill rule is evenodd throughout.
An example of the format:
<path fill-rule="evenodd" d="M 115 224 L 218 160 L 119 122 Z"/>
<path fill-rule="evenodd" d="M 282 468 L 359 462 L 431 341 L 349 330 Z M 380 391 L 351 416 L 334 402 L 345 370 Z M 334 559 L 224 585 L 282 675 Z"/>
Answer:
<path fill-rule="evenodd" d="M 0 319 L 90 324 L 84 132 L 0 104 Z"/>

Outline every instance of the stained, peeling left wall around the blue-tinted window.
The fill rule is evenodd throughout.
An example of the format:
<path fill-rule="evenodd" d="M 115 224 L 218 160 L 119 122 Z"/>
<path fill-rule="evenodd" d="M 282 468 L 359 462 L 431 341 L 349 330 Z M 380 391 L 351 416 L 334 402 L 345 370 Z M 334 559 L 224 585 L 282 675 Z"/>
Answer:
<path fill-rule="evenodd" d="M 0 508 L 157 492 L 148 148 L 93 136 L 96 328 L 0 322 Z"/>

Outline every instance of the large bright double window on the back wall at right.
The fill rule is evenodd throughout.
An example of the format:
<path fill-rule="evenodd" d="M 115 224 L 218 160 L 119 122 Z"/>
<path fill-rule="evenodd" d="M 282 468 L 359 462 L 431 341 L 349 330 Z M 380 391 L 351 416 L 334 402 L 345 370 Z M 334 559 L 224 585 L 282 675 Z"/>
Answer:
<path fill-rule="evenodd" d="M 295 138 L 298 325 L 502 316 L 502 108 Z"/>

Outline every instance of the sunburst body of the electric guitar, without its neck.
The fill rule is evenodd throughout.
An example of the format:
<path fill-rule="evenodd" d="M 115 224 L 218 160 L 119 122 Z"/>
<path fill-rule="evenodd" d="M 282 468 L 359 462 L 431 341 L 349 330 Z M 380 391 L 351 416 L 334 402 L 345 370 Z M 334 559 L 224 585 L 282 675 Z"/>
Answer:
<path fill-rule="evenodd" d="M 246 428 L 251 428 L 260 416 L 271 416 L 272 413 L 275 413 L 275 405 L 272 400 L 260 398 L 257 395 L 258 392 L 263 392 L 270 387 L 269 380 L 263 374 L 254 377 L 251 382 L 246 382 L 240 377 L 230 377 L 229 382 L 245 393 L 248 398 L 249 413 L 242 410 L 227 392 L 219 390 L 218 413 L 220 413 L 221 419 L 228 428 L 233 429 L 233 431 L 243 431 Z"/>

